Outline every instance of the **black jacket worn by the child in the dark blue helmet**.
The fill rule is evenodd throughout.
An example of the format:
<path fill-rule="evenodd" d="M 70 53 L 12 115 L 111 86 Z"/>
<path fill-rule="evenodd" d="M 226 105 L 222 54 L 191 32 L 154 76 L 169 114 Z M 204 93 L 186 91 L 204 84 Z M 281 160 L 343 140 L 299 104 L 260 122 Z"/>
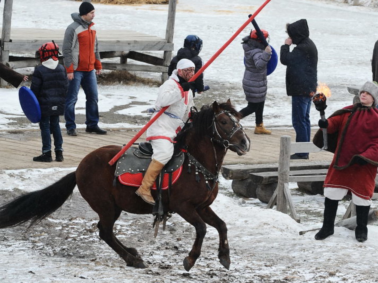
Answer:
<path fill-rule="evenodd" d="M 195 65 L 195 72 L 197 73 L 199 69 L 202 67 L 202 59 L 200 56 L 198 56 L 199 52 L 194 49 L 189 49 L 186 47 L 180 48 L 177 51 L 177 55 L 172 58 L 170 61 L 169 67 L 168 67 L 168 75 L 172 75 L 172 72 L 176 69 L 178 61 L 181 59 L 189 59 L 191 60 Z M 203 73 L 196 78 L 194 81 L 195 88 L 198 92 L 203 91 Z"/>

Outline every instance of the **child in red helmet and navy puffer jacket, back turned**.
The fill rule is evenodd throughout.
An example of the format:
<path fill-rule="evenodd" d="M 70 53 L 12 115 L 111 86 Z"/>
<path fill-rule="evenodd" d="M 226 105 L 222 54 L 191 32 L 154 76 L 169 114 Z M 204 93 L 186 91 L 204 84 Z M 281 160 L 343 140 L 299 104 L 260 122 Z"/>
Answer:
<path fill-rule="evenodd" d="M 42 137 L 42 154 L 33 161 L 51 162 L 51 134 L 54 137 L 55 161 L 63 161 L 63 138 L 59 126 L 59 115 L 64 114 L 68 88 L 67 72 L 58 62 L 59 48 L 53 42 L 43 44 L 37 51 L 41 64 L 36 67 L 30 89 L 41 108 L 39 128 Z"/>

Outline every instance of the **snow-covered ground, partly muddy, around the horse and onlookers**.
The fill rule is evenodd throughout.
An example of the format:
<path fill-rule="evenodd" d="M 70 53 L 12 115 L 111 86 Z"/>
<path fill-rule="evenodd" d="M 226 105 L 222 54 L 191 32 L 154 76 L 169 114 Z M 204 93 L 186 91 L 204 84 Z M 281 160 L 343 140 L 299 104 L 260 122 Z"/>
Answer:
<path fill-rule="evenodd" d="M 180 0 L 175 25 L 175 50 L 187 34 L 204 40 L 201 57 L 206 62 L 245 22 L 262 1 Z M 70 13 L 79 2 L 71 0 L 14 0 L 12 26 L 17 28 L 65 28 Z M 166 5 L 114 6 L 95 4 L 98 29 L 133 29 L 164 37 Z M 59 12 L 57 12 L 59 11 Z M 2 13 L 2 8 L 0 9 Z M 319 51 L 319 82 L 332 90 L 327 114 L 352 102 L 347 85 L 362 85 L 371 79 L 370 59 L 376 35 L 378 12 L 361 6 L 324 1 L 272 0 L 256 18 L 261 28 L 271 34 L 271 45 L 279 52 L 285 40 L 285 24 L 307 18 L 310 37 Z M 243 31 L 209 66 L 205 80 L 211 90 L 198 102 L 225 101 L 231 97 L 237 108 L 245 105 L 241 87 L 243 76 Z M 285 67 L 277 66 L 268 77 L 268 95 L 264 122 L 268 126 L 291 124 L 290 99 L 285 94 Z M 99 86 L 99 108 L 145 105 L 155 100 L 156 88 L 146 86 Z M 0 89 L 0 129 L 21 117 L 16 89 Z M 77 103 L 84 108 L 83 95 Z M 140 115 L 144 106 L 125 108 L 122 114 Z M 83 113 L 83 110 L 78 110 Z M 313 125 L 319 114 L 312 109 Z M 253 126 L 254 117 L 243 120 Z M 79 125 L 80 126 L 80 125 Z M 83 125 L 81 125 L 83 126 Z M 139 127 L 118 123 L 104 127 Z M 30 124 L 30 128 L 37 125 Z M 9 194 L 34 191 L 50 184 L 75 168 L 0 170 L 2 198 Z M 217 261 L 217 232 L 208 228 L 203 252 L 190 272 L 182 260 L 194 240 L 194 228 L 177 215 L 171 218 L 166 232 L 153 239 L 151 216 L 122 214 L 116 223 L 121 241 L 136 246 L 149 268 L 136 270 L 125 263 L 98 238 L 96 215 L 82 204 L 77 191 L 61 211 L 42 221 L 30 231 L 26 226 L 0 230 L 0 280 L 2 282 L 375 282 L 377 226 L 369 225 L 369 239 L 359 243 L 354 232 L 335 228 L 335 235 L 324 241 L 314 240 L 315 232 L 304 231 L 321 226 L 323 197 L 303 195 L 292 188 L 298 224 L 288 215 L 265 209 L 258 200 L 239 200 L 221 178 L 213 210 L 227 223 L 231 248 L 231 268 L 227 271 Z M 80 202 L 81 201 L 81 202 Z M 1 201 L 3 202 L 3 201 Z M 78 206 L 78 205 L 83 205 Z M 347 202 L 339 205 L 338 218 Z M 376 204 L 374 204 L 376 207 Z M 143 227 L 143 229 L 141 228 Z M 148 228 L 147 228 L 148 227 Z M 15 232 L 14 232 L 15 231 Z M 18 233 L 18 234 L 17 234 Z M 136 240 L 138 238 L 138 240 Z M 146 239 L 147 238 L 147 239 Z M 166 249 L 166 246 L 169 248 Z"/>

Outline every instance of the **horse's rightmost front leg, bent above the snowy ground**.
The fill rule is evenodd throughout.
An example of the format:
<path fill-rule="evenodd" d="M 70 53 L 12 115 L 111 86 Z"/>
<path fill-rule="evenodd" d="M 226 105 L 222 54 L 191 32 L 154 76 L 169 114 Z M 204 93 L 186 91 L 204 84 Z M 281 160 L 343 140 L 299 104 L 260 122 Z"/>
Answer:
<path fill-rule="evenodd" d="M 218 249 L 218 258 L 220 263 L 227 269 L 230 268 L 230 248 L 228 246 L 227 239 L 227 227 L 226 223 L 215 214 L 215 212 L 206 206 L 203 209 L 198 211 L 198 214 L 208 225 L 217 229 L 219 234 L 219 249 Z"/>

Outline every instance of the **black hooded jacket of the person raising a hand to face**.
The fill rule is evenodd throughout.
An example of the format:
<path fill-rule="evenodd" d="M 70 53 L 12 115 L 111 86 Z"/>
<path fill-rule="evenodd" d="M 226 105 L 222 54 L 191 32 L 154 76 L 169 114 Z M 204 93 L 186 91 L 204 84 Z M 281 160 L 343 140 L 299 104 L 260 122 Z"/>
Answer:
<path fill-rule="evenodd" d="M 318 50 L 308 37 L 307 20 L 301 19 L 288 25 L 287 32 L 296 45 L 291 52 L 290 46 L 281 46 L 280 61 L 287 66 L 287 95 L 309 96 L 318 85 Z"/>

